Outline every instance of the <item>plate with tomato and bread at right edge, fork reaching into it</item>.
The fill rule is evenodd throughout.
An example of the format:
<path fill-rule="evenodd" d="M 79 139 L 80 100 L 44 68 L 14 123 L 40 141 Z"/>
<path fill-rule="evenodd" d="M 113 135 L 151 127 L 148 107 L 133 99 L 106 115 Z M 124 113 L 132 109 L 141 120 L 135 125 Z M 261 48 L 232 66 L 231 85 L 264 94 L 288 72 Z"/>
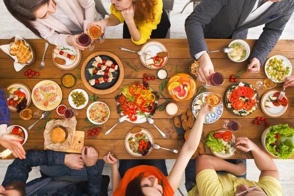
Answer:
<path fill-rule="evenodd" d="M 262 97 L 261 109 L 268 117 L 280 118 L 289 110 L 288 98 L 285 95 L 284 98 L 279 100 L 280 94 L 279 90 L 270 90 Z"/>

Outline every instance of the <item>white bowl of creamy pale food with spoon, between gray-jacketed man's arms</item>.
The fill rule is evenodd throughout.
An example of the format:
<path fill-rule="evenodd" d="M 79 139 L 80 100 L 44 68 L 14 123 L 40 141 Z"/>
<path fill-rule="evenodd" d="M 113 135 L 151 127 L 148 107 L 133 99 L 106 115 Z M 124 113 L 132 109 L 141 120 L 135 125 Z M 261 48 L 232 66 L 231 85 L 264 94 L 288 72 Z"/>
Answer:
<path fill-rule="evenodd" d="M 250 54 L 249 45 L 243 40 L 234 40 L 229 44 L 229 47 L 233 49 L 233 51 L 227 53 L 229 59 L 234 62 L 243 62 L 245 61 Z"/>

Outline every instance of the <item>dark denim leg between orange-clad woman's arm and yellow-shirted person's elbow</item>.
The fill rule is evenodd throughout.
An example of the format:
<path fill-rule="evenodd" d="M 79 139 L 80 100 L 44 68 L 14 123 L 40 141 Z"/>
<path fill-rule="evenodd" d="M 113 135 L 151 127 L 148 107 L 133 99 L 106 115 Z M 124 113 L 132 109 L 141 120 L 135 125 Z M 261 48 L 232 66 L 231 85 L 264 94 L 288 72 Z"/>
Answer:
<path fill-rule="evenodd" d="M 185 169 L 185 187 L 187 192 L 196 186 L 196 160 L 191 159 Z"/>

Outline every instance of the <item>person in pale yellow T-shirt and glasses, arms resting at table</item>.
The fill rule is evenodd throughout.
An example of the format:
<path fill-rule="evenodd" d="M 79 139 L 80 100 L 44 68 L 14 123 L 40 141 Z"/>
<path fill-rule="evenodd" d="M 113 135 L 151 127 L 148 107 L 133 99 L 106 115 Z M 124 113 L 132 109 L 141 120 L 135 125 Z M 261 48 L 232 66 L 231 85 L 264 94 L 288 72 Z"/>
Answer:
<path fill-rule="evenodd" d="M 232 164 L 214 156 L 201 155 L 196 159 L 196 186 L 187 189 L 188 196 L 283 196 L 279 172 L 270 156 L 246 137 L 237 138 L 236 146 L 252 152 L 260 170 L 259 181 L 235 176 L 245 173 L 243 162 Z"/>

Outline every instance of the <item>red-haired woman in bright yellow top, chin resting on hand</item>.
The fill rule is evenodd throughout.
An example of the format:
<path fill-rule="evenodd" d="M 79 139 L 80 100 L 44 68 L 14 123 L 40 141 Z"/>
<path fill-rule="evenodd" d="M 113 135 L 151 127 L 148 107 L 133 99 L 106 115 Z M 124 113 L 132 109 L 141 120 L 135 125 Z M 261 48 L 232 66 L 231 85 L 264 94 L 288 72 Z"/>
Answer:
<path fill-rule="evenodd" d="M 105 26 L 123 23 L 123 39 L 144 44 L 150 38 L 165 38 L 171 26 L 162 0 L 111 0 L 108 18 L 88 25 L 98 25 L 104 34 Z"/>

